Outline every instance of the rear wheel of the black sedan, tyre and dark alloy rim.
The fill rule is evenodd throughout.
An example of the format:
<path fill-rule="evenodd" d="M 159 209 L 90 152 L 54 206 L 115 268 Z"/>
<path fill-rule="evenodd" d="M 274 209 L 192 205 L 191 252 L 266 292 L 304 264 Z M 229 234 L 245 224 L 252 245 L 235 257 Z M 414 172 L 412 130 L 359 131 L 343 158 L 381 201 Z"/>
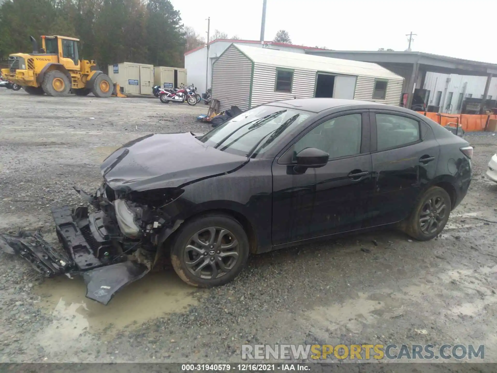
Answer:
<path fill-rule="evenodd" d="M 428 188 L 417 200 L 403 230 L 419 241 L 435 238 L 447 224 L 452 209 L 449 193 L 441 187 Z"/>

